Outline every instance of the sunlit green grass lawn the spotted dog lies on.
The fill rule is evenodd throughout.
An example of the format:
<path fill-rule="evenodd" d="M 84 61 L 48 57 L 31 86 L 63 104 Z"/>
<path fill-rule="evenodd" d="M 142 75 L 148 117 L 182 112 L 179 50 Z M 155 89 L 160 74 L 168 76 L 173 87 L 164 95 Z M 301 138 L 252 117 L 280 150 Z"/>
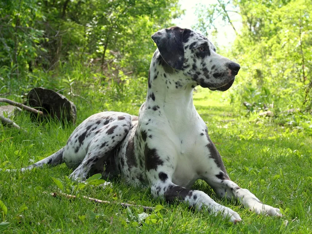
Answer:
<path fill-rule="evenodd" d="M 234 201 L 219 199 L 202 181 L 193 188 L 203 190 L 217 202 L 238 212 L 242 222 L 233 225 L 220 216 L 190 211 L 186 205 L 168 205 L 155 200 L 149 189 L 126 186 L 122 179 L 112 188 L 86 186 L 80 195 L 111 202 L 128 202 L 157 209 L 141 224 L 132 217 L 142 210 L 124 209 L 118 204 L 95 204 L 78 198 L 51 197 L 57 191 L 53 178 L 71 190 L 66 176 L 71 170 L 64 164 L 34 169 L 25 173 L 0 171 L 0 200 L 7 207 L 1 221 L 9 222 L 6 233 L 312 233 L 312 149 L 311 139 L 298 130 L 283 128 L 273 119 L 245 117 L 234 108 L 228 93 L 198 89 L 194 95 L 197 111 L 208 125 L 209 135 L 220 151 L 230 178 L 248 188 L 261 201 L 280 207 L 285 217 L 265 217 L 244 209 Z M 12 97 L 14 99 L 14 97 Z M 27 133 L 0 126 L 0 167 L 20 168 L 60 149 L 86 117 L 103 110 L 137 114 L 139 103 L 85 100 L 75 97 L 78 120 L 75 126 L 63 127 L 57 121 L 31 123 L 22 113 L 14 121 Z M 25 210 L 20 210 L 23 207 Z M 127 219 L 129 222 L 127 222 Z M 284 225 L 284 221 L 289 223 Z M 0 222 L 1 222 L 0 221 Z M 3 231 L 0 227 L 0 232 Z"/>

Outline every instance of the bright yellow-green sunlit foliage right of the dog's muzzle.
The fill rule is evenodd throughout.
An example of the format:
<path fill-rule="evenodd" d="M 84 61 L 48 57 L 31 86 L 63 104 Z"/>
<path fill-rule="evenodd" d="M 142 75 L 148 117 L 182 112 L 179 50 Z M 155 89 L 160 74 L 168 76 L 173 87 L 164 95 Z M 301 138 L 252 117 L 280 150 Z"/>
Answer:
<path fill-rule="evenodd" d="M 219 1 L 202 10 L 197 28 L 205 30 L 200 22 L 213 22 L 218 14 L 232 23 L 224 4 Z M 299 126 L 310 134 L 312 5 L 304 0 L 233 0 L 229 4 L 242 19 L 241 32 L 225 53 L 241 65 L 232 89 L 233 105 L 241 108 L 246 101 L 252 105 L 248 111 L 269 109 L 278 123 Z"/>

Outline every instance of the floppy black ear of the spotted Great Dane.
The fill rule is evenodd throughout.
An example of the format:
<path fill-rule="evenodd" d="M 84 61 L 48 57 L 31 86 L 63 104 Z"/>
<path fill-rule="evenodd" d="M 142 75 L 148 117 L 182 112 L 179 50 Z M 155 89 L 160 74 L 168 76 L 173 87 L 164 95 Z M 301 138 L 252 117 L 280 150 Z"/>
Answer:
<path fill-rule="evenodd" d="M 152 35 L 163 60 L 174 69 L 182 69 L 184 61 L 184 48 L 182 36 L 184 29 L 170 27 L 159 30 Z"/>

